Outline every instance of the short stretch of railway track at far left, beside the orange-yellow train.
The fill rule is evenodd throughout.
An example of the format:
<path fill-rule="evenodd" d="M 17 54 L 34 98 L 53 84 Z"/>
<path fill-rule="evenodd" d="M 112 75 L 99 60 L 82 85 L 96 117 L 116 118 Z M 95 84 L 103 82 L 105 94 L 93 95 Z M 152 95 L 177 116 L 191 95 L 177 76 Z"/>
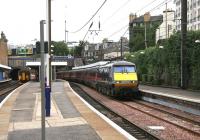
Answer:
<path fill-rule="evenodd" d="M 9 81 L 0 84 L 0 102 L 14 89 L 19 87 L 21 83 L 19 81 Z"/>

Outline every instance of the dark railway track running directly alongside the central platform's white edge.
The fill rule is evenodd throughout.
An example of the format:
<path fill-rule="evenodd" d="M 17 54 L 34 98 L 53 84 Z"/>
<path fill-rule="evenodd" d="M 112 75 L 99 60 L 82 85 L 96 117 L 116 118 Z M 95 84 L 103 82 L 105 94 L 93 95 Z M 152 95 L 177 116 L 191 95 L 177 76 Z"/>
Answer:
<path fill-rule="evenodd" d="M 100 111 L 102 114 L 107 116 L 110 120 L 115 122 L 118 126 L 126 130 L 129 134 L 134 136 L 139 140 L 158 140 L 159 138 L 149 132 L 145 131 L 141 127 L 138 127 L 136 124 L 129 122 L 119 114 L 116 114 L 106 106 L 100 104 L 97 100 L 86 94 L 77 84 L 70 83 L 70 86 L 73 90 L 76 91 L 82 98 L 84 98 L 89 104 L 94 108 Z"/>

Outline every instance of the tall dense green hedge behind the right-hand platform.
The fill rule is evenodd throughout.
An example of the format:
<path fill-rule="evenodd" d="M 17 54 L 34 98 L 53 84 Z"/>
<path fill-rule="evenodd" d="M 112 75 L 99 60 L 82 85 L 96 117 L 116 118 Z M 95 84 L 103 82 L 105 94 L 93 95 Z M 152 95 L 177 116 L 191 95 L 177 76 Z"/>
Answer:
<path fill-rule="evenodd" d="M 187 33 L 187 87 L 200 89 L 200 31 Z M 141 82 L 180 87 L 180 33 L 175 33 L 167 41 L 162 42 L 164 48 L 150 47 L 126 55 L 127 60 L 137 66 Z M 143 52 L 143 53 L 141 53 Z"/>

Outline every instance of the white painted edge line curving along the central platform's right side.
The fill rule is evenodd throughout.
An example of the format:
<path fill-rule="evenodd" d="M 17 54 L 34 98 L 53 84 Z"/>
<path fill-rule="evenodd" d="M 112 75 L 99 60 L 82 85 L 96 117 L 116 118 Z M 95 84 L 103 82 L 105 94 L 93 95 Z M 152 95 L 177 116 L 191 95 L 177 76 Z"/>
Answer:
<path fill-rule="evenodd" d="M 66 82 L 66 81 L 65 81 Z M 120 126 L 118 126 L 116 123 L 111 121 L 109 118 L 107 118 L 105 115 L 100 113 L 98 110 L 96 110 L 93 106 L 91 106 L 88 102 L 86 102 L 81 96 L 79 96 L 69 85 L 68 82 L 66 82 L 67 86 L 71 89 L 71 91 L 86 105 L 88 106 L 93 112 L 95 112 L 98 116 L 100 116 L 104 121 L 106 121 L 108 124 L 110 124 L 114 129 L 116 129 L 119 133 L 121 133 L 124 137 L 126 137 L 128 140 L 137 140 L 135 137 L 130 135 L 127 131 L 122 129 Z"/>

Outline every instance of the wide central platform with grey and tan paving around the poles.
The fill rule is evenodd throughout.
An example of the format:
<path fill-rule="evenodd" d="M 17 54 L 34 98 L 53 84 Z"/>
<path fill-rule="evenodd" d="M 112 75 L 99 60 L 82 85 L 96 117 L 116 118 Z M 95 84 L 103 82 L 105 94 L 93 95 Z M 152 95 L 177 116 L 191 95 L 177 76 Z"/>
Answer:
<path fill-rule="evenodd" d="M 39 82 L 28 82 L 0 105 L 0 140 L 41 139 Z M 71 89 L 68 82 L 52 83 L 51 116 L 46 117 L 48 140 L 129 139 L 120 128 L 102 119 Z"/>

